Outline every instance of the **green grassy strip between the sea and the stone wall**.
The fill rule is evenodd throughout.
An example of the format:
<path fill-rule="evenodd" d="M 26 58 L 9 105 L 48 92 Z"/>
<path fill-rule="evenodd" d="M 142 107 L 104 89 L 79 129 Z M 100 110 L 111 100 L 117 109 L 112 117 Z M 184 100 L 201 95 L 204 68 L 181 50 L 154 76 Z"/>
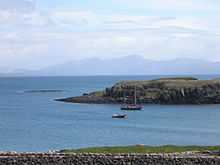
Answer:
<path fill-rule="evenodd" d="M 186 151 L 220 151 L 220 146 L 118 146 L 118 147 L 91 147 L 73 150 L 61 150 L 62 153 L 181 153 Z"/>

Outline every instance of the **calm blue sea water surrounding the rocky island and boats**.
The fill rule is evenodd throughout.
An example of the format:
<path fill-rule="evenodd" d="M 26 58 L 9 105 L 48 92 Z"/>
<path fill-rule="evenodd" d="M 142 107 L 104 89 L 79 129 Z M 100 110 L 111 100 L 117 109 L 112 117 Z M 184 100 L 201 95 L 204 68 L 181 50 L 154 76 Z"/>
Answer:
<path fill-rule="evenodd" d="M 107 145 L 220 145 L 220 105 L 145 105 L 112 119 L 119 105 L 53 99 L 159 76 L 0 78 L 0 150 L 48 151 Z M 220 76 L 197 76 L 211 79 Z M 27 92 L 29 90 L 63 92 Z"/>

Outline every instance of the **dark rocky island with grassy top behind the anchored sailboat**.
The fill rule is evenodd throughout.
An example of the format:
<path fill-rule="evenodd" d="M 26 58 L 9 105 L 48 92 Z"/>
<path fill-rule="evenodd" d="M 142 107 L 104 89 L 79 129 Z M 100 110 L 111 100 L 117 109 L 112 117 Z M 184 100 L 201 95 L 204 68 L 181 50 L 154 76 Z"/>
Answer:
<path fill-rule="evenodd" d="M 71 103 L 116 104 L 132 102 L 136 89 L 142 104 L 220 104 L 220 79 L 198 80 L 193 77 L 121 81 L 103 91 L 57 99 Z"/>

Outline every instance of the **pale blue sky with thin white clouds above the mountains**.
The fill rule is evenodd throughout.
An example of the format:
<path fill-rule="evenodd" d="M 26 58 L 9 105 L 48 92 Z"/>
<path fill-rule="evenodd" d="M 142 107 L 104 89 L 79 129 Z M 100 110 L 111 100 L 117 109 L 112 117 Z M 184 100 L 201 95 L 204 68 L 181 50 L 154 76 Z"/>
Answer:
<path fill-rule="evenodd" d="M 0 0 L 0 70 L 85 58 L 220 61 L 219 0 Z"/>

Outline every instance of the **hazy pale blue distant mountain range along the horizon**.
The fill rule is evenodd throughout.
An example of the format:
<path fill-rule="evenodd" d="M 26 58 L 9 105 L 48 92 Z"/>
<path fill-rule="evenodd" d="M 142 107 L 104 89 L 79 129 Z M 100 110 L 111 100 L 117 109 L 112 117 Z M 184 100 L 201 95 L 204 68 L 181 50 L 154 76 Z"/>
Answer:
<path fill-rule="evenodd" d="M 132 55 L 113 59 L 88 58 L 35 71 L 11 73 L 16 76 L 79 76 L 79 75 L 184 75 L 220 74 L 220 62 L 181 58 L 148 60 Z M 4 74 L 5 76 L 6 74 Z M 7 74 L 8 75 L 8 74 Z"/>

